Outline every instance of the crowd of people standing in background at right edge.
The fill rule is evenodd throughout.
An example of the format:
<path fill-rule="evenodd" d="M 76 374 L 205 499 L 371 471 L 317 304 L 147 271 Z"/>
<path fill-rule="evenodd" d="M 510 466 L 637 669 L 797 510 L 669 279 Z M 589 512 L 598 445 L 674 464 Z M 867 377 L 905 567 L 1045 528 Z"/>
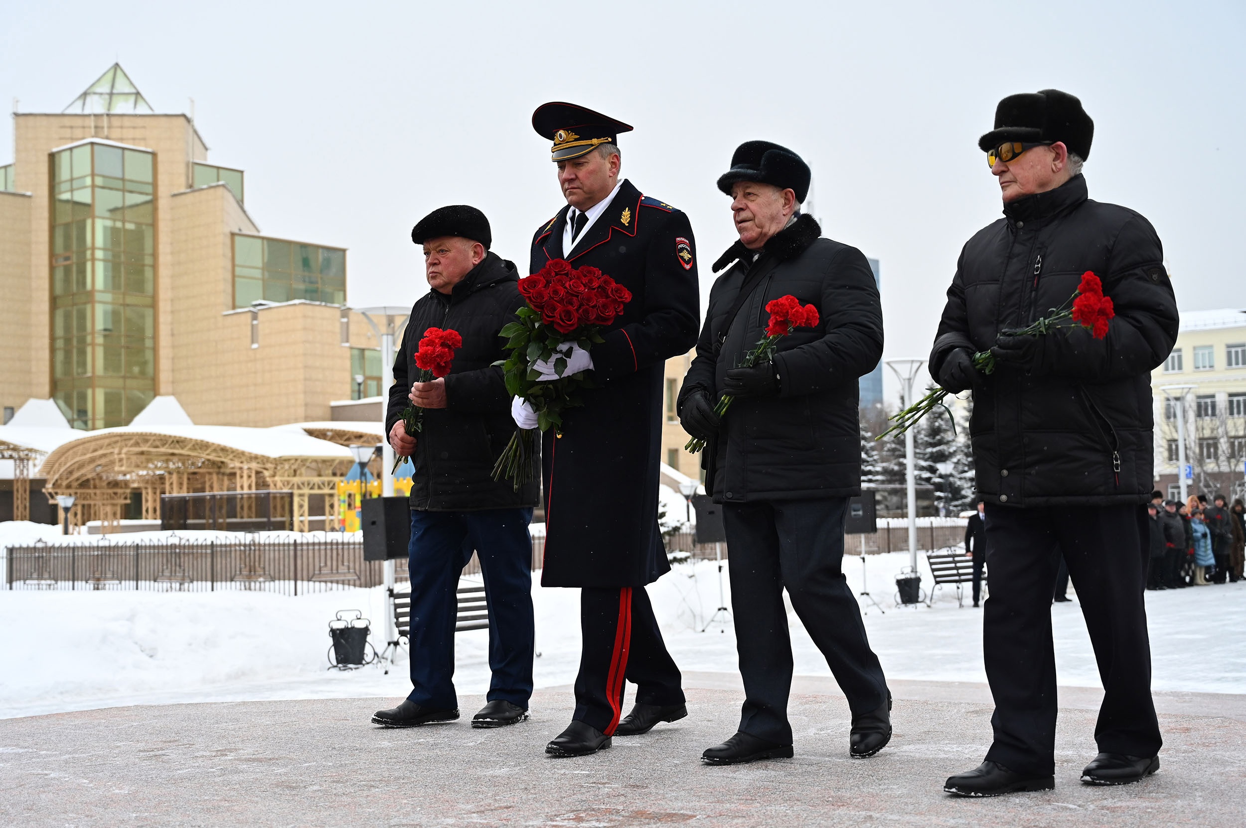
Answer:
<path fill-rule="evenodd" d="M 1246 504 L 1216 493 L 1191 494 L 1185 503 L 1151 492 L 1150 567 L 1146 589 L 1180 589 L 1234 583 L 1246 554 Z"/>

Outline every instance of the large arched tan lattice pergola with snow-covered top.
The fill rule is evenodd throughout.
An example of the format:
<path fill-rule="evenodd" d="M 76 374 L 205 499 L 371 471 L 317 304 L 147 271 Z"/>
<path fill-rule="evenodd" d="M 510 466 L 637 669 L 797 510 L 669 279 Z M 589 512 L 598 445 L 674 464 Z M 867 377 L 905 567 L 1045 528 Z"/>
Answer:
<path fill-rule="evenodd" d="M 308 532 L 313 494 L 324 496 L 325 528 L 338 527 L 338 481 L 353 462 L 336 452 L 273 457 L 203 437 L 116 430 L 61 446 L 41 471 L 50 502 L 60 494 L 76 498 L 70 514 L 75 527 L 100 520 L 101 532 L 115 530 L 135 492 L 143 519 L 159 519 L 161 494 L 289 489 L 294 529 Z"/>

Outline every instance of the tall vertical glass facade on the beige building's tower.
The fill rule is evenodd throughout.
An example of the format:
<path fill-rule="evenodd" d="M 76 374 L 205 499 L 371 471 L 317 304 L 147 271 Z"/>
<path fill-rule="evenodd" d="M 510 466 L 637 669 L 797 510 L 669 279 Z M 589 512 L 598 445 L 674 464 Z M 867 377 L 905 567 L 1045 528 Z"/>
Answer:
<path fill-rule="evenodd" d="M 49 167 L 54 398 L 75 428 L 123 426 L 156 393 L 155 158 L 88 142 Z"/>

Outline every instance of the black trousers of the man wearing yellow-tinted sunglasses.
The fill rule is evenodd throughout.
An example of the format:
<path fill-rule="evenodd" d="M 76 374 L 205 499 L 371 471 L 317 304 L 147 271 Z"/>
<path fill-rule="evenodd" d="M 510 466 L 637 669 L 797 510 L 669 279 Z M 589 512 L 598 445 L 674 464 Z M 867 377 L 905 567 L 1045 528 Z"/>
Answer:
<path fill-rule="evenodd" d="M 1163 740 L 1151 702 L 1151 654 L 1144 579 L 1143 506 L 987 506 L 991 598 L 982 649 L 994 696 L 994 743 L 987 758 L 1018 773 L 1055 768 L 1055 655 L 1052 581 L 1063 557 L 1078 589 L 1103 681 L 1099 750 L 1155 756 Z"/>

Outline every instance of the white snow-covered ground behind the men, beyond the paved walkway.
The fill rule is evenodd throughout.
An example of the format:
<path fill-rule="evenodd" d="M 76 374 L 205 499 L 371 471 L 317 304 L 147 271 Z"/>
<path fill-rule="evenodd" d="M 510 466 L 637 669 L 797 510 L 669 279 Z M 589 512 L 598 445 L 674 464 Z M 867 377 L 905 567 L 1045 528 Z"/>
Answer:
<path fill-rule="evenodd" d="M 893 606 L 906 553 L 870 555 L 868 585 L 886 613 L 865 605 L 870 640 L 893 679 L 984 681 L 982 611 L 939 590 L 932 608 Z M 925 569 L 925 563 L 921 567 Z M 854 591 L 860 558 L 845 559 Z M 726 573 L 724 590 L 730 605 Z M 578 593 L 542 589 L 533 574 L 537 686 L 571 684 L 579 661 Z M 930 584 L 928 573 L 925 584 Z M 700 630 L 719 605 L 714 562 L 680 564 L 649 586 L 667 644 L 684 670 L 734 671 L 730 624 Z M 262 699 L 404 696 L 402 659 L 378 667 L 326 670 L 328 623 L 340 609 L 384 618 L 380 589 L 300 595 L 269 593 L 0 591 L 0 717 L 93 707 Z M 1156 690 L 1246 692 L 1246 583 L 1146 593 Z M 1099 686 L 1078 603 L 1052 608 L 1062 685 Z M 797 675 L 830 675 L 791 615 Z M 462 694 L 488 685 L 487 631 L 457 636 Z"/>

